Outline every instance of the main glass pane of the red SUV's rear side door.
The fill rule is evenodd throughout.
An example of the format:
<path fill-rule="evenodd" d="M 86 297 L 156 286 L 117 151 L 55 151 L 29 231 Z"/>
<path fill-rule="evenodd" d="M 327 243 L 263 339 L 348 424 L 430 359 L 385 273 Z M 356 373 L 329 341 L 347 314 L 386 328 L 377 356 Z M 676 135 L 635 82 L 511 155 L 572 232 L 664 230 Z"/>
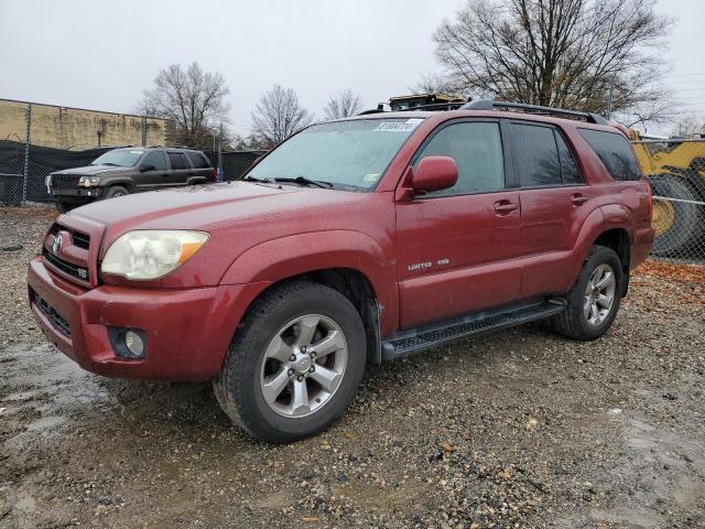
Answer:
<path fill-rule="evenodd" d="M 512 123 L 512 137 L 516 166 L 523 187 L 563 184 L 551 127 Z"/>

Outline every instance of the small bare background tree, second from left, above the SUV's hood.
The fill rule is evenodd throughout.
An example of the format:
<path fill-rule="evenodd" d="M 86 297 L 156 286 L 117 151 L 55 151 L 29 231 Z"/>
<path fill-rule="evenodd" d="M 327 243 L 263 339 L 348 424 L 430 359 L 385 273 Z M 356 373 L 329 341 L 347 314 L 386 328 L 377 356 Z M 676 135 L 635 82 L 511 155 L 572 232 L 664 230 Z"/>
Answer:
<path fill-rule="evenodd" d="M 274 85 L 252 112 L 252 136 L 258 145 L 272 148 L 313 121 L 313 115 L 299 105 L 293 88 Z"/>

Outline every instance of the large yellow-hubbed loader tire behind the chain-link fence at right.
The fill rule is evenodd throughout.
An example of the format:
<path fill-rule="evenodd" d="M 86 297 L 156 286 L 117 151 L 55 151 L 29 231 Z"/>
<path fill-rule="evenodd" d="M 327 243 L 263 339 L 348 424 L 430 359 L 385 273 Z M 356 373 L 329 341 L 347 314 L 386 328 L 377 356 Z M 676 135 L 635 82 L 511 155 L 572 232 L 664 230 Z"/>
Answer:
<path fill-rule="evenodd" d="M 692 183 L 683 176 L 658 175 L 649 179 L 654 196 L 702 202 Z M 655 230 L 653 253 L 683 257 L 696 248 L 705 236 L 705 219 L 698 215 L 704 206 L 688 202 L 653 201 L 652 226 Z"/>

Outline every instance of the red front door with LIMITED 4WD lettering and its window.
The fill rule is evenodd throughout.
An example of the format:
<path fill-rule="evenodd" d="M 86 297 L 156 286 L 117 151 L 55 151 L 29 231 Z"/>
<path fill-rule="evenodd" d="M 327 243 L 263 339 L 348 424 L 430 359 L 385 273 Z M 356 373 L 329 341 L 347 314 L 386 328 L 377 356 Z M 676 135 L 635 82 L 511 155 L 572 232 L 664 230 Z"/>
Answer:
<path fill-rule="evenodd" d="M 401 328 L 519 298 L 521 206 L 505 137 L 498 120 L 452 121 L 415 156 L 414 168 L 426 155 L 453 158 L 458 181 L 395 205 Z"/>

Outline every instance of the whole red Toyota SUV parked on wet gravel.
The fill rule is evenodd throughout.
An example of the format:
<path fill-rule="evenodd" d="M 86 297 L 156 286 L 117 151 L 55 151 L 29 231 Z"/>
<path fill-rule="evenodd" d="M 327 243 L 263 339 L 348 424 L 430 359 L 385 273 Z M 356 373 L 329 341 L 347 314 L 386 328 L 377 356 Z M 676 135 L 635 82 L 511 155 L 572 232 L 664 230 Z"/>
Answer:
<path fill-rule="evenodd" d="M 625 130 L 599 116 L 371 111 L 308 127 L 241 181 L 59 216 L 29 295 L 85 369 L 213 379 L 232 420 L 290 442 L 340 417 L 366 363 L 539 319 L 601 336 L 650 217 Z"/>

